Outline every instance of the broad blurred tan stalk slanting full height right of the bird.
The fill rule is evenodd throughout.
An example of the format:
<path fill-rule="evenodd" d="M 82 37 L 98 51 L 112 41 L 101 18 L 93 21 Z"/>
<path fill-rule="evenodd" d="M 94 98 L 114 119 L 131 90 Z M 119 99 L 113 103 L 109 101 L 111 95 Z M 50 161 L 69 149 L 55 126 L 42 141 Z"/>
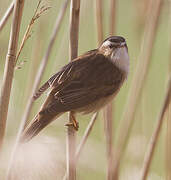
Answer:
<path fill-rule="evenodd" d="M 156 36 L 159 17 L 161 14 L 161 7 L 162 0 L 153 0 L 149 5 L 139 61 L 132 80 L 132 86 L 129 92 L 125 111 L 123 113 L 121 128 L 119 130 L 120 133 L 118 136 L 117 151 L 115 152 L 115 157 L 117 157 L 117 160 L 113 160 L 113 179 L 118 176 L 120 162 L 129 140 L 130 132 L 135 119 L 135 112 L 138 106 L 138 102 L 140 101 L 143 86 L 149 71 L 152 48 Z"/>

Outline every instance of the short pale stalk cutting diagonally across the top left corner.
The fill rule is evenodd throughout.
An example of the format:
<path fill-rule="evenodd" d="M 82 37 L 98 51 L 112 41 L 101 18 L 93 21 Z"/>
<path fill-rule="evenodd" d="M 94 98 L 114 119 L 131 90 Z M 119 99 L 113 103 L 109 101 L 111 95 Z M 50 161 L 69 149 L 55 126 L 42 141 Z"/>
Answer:
<path fill-rule="evenodd" d="M 5 12 L 4 16 L 0 21 L 0 32 L 7 23 L 9 17 L 11 16 L 13 9 L 14 9 L 14 1 L 12 1 L 12 3 L 9 5 L 7 11 Z"/>

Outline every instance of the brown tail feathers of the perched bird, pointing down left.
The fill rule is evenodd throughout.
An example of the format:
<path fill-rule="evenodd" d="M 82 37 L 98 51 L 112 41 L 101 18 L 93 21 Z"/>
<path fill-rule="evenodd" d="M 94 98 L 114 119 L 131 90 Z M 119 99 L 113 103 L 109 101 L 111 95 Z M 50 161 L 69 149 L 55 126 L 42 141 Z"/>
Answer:
<path fill-rule="evenodd" d="M 43 128 L 45 128 L 55 118 L 59 117 L 59 115 L 60 114 L 58 115 L 38 114 L 22 133 L 20 142 L 25 143 L 30 141 L 34 136 L 36 136 Z"/>

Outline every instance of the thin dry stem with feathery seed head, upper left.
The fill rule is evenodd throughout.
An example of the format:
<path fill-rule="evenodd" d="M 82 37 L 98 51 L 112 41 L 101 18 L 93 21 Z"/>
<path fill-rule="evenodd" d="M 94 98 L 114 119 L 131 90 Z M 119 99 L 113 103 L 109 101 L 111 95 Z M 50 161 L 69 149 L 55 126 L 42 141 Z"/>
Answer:
<path fill-rule="evenodd" d="M 27 26 L 26 32 L 24 34 L 24 37 L 22 39 L 20 48 L 19 48 L 17 56 L 16 56 L 16 61 L 15 61 L 16 63 L 18 61 L 18 58 L 19 58 L 19 56 L 21 54 L 21 51 L 22 51 L 26 41 L 31 37 L 31 30 L 32 30 L 32 27 L 33 27 L 35 21 L 38 20 L 38 18 L 40 18 L 40 16 L 50 8 L 50 7 L 46 7 L 46 6 L 40 7 L 41 2 L 42 2 L 42 0 L 39 0 L 38 5 L 36 7 L 36 10 L 34 12 L 34 15 L 33 15 L 32 19 L 31 19 L 30 23 Z M 16 66 L 16 69 L 21 68 L 21 65 L 22 65 L 22 63 L 19 63 L 19 65 Z"/>

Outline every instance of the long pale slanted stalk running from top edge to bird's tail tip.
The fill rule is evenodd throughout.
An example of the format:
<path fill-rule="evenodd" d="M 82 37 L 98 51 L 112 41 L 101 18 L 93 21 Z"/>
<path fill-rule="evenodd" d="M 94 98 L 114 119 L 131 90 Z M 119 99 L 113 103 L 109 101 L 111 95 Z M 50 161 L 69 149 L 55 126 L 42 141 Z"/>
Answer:
<path fill-rule="evenodd" d="M 30 99 L 27 102 L 26 110 L 25 110 L 24 115 L 23 115 L 23 119 L 22 119 L 23 128 L 26 127 L 26 125 L 28 124 L 28 117 L 29 117 L 29 115 L 31 113 L 33 102 L 34 102 L 33 95 L 36 93 L 36 91 L 37 91 L 37 89 L 39 87 L 39 84 L 41 82 L 42 75 L 43 75 L 43 73 L 45 71 L 45 67 L 46 67 L 46 65 L 48 63 L 50 53 L 52 52 L 52 48 L 53 48 L 54 42 L 56 40 L 57 34 L 59 32 L 59 29 L 61 27 L 61 23 L 62 23 L 62 20 L 64 18 L 68 3 L 69 3 L 69 0 L 65 0 L 63 2 L 63 4 L 62 4 L 59 15 L 58 15 L 58 17 L 56 19 L 56 22 L 55 22 L 55 26 L 54 26 L 52 35 L 50 37 L 50 41 L 49 41 L 49 44 L 48 44 L 47 51 L 46 51 L 45 55 L 43 56 L 43 58 L 41 60 L 40 67 L 39 67 L 38 72 L 36 74 L 36 79 L 35 79 L 35 81 L 33 83 L 33 89 L 32 89 L 32 93 L 31 93 L 32 96 L 30 97 Z"/>

